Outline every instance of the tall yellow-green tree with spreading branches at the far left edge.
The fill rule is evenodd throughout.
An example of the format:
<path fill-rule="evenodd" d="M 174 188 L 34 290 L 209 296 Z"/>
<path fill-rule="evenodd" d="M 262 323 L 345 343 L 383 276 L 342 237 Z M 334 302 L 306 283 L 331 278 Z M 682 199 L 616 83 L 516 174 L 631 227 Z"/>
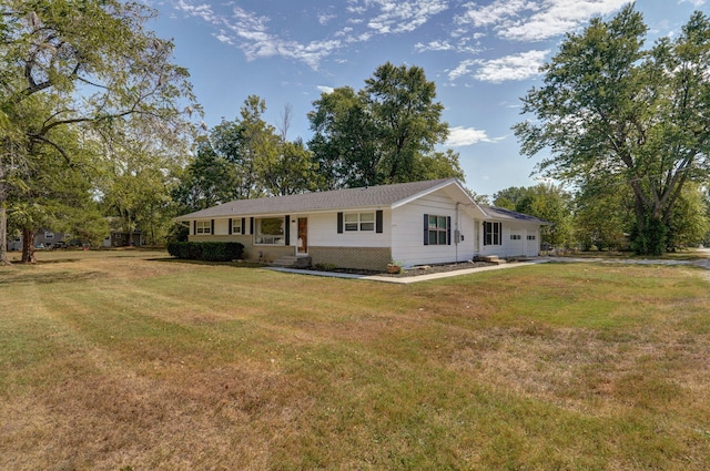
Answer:
<path fill-rule="evenodd" d="M 45 147 L 77 165 L 58 137 L 62 129 L 99 139 L 139 116 L 152 140 L 190 131 L 184 103 L 195 105 L 189 74 L 170 62 L 173 44 L 144 28 L 152 17 L 146 7 L 120 0 L 0 6 L 0 264 L 8 263 L 9 186 L 21 186 L 22 170 Z"/>

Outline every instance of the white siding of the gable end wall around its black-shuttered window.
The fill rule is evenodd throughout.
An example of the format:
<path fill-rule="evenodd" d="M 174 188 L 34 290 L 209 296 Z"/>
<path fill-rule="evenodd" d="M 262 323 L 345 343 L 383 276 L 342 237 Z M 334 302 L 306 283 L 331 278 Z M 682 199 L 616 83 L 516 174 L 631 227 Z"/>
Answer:
<path fill-rule="evenodd" d="M 424 215 L 452 218 L 452 245 L 424 245 Z M 464 240 L 456 244 L 456 204 L 444 192 L 424 196 L 393 211 L 392 257 L 405 266 L 468 260 L 475 255 L 476 229 L 463 205 L 458 209 L 459 231 Z"/>

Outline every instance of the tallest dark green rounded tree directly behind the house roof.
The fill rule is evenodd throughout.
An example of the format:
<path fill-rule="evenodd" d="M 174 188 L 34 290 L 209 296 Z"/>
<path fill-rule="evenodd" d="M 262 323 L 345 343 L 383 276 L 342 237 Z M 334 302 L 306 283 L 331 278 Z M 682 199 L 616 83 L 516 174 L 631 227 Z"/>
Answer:
<path fill-rule="evenodd" d="M 448 136 L 436 85 L 418 66 L 377 68 L 365 86 L 323 93 L 308 113 L 325 188 L 463 177 L 458 154 L 436 152 Z"/>

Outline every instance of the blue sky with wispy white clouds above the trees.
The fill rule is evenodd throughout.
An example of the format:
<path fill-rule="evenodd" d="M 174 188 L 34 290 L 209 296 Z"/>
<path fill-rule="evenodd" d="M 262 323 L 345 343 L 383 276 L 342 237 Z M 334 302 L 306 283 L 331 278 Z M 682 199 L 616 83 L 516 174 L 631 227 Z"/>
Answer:
<path fill-rule="evenodd" d="M 511 126 L 527 117 L 520 99 L 541 84 L 540 65 L 567 33 L 609 19 L 625 0 L 144 0 L 149 24 L 173 39 L 204 123 L 233 121 L 248 95 L 266 102 L 277 126 L 291 107 L 287 139 L 307 142 L 307 113 L 322 93 L 361 90 L 378 65 L 417 65 L 435 82 L 448 141 L 465 185 L 493 196 L 531 186 L 544 154 L 527 157 Z M 673 37 L 710 0 L 638 0 L 647 45 Z"/>

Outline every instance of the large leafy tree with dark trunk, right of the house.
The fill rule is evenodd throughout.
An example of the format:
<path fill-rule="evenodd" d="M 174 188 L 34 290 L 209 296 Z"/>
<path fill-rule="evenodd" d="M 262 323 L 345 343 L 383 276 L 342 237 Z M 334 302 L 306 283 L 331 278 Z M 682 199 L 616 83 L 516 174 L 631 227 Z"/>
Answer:
<path fill-rule="evenodd" d="M 525 154 L 549 149 L 539 172 L 580 186 L 625 182 L 635 249 L 661 254 L 683 186 L 710 171 L 710 21 L 696 12 L 648 50 L 646 32 L 629 4 L 568 34 L 542 66 L 545 85 L 523 99 L 536 121 L 514 129 Z"/>

